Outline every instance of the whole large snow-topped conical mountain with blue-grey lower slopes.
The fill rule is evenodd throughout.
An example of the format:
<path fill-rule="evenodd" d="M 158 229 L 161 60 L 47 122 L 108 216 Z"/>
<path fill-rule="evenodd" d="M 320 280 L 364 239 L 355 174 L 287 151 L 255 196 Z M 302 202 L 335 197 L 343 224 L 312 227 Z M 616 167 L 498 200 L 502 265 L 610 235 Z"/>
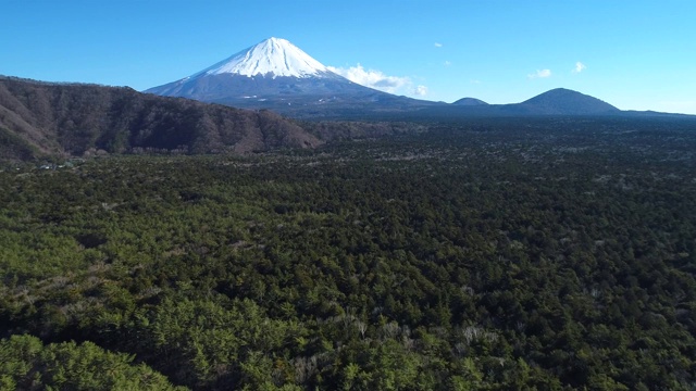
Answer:
<path fill-rule="evenodd" d="M 191 76 L 145 92 L 271 109 L 293 116 L 398 112 L 435 104 L 352 83 L 281 38 L 269 38 Z"/>

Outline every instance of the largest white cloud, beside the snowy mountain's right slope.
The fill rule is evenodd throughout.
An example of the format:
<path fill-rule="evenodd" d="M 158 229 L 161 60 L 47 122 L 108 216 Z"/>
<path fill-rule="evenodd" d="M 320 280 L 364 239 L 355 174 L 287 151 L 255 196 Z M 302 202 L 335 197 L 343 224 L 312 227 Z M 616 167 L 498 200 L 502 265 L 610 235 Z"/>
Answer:
<path fill-rule="evenodd" d="M 388 76 L 381 71 L 365 70 L 361 64 L 347 68 L 327 66 L 327 68 L 352 83 L 361 86 L 374 88 L 380 91 L 395 94 L 422 94 L 421 87 L 427 90 L 425 86 L 413 87 L 413 83 L 408 77 Z"/>

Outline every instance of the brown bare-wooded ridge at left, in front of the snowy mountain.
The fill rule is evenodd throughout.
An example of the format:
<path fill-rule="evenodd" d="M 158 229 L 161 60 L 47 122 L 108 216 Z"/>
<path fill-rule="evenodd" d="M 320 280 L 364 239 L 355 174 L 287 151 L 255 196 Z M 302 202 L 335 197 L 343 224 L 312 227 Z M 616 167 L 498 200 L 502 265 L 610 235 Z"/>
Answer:
<path fill-rule="evenodd" d="M 0 77 L 0 157 L 5 160 L 98 150 L 245 153 L 321 143 L 295 122 L 269 111 L 157 97 L 130 88 Z"/>

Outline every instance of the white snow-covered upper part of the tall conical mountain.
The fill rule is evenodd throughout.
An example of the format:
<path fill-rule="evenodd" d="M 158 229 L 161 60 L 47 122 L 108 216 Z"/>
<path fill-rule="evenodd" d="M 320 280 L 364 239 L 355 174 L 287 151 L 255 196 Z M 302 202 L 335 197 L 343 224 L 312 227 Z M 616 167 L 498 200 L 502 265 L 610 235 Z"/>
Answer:
<path fill-rule="evenodd" d="M 330 73 L 326 66 L 281 38 L 269 38 L 194 76 L 236 74 L 244 76 L 309 77 Z"/>

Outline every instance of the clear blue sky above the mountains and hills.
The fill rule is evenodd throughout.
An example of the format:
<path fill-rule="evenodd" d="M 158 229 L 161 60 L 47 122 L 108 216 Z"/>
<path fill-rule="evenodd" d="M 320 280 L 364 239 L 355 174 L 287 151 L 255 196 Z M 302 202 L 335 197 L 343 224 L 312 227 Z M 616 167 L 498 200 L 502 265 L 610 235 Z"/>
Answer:
<path fill-rule="evenodd" d="M 144 90 L 278 37 L 421 99 L 563 87 L 696 114 L 695 20 L 693 0 L 0 0 L 0 74 Z"/>

